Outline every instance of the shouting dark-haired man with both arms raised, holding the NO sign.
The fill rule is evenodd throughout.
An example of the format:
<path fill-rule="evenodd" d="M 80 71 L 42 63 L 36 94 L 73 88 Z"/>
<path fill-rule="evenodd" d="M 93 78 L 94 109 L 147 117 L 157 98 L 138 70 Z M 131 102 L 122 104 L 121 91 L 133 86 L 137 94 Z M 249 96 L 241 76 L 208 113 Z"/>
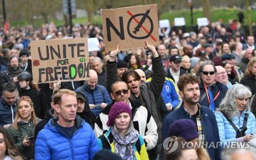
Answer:
<path fill-rule="evenodd" d="M 145 48 L 150 50 L 152 53 L 152 66 L 154 68 L 154 72 L 156 74 L 153 75 L 152 81 L 150 84 L 140 84 L 140 76 L 134 70 L 126 70 L 122 74 L 122 81 L 126 82 L 128 85 L 128 89 L 131 90 L 131 100 L 137 101 L 145 106 L 146 109 L 151 113 L 153 116 L 158 130 L 158 152 L 161 149 L 161 126 L 162 126 L 162 119 L 161 115 L 165 114 L 156 105 L 156 101 L 159 99 L 161 95 L 162 88 L 165 81 L 165 72 L 162 63 L 161 56 L 158 55 L 156 48 L 153 45 L 148 44 L 145 41 Z M 117 62 L 116 56 L 119 53 L 119 45 L 115 51 L 111 51 L 110 53 L 110 60 L 106 63 L 106 70 L 107 70 L 107 77 L 106 77 L 106 86 L 110 89 L 112 83 L 118 80 L 117 75 Z M 154 154 L 149 154 L 152 159 L 156 159 L 157 152 L 154 151 Z M 154 157 L 154 158 L 153 158 Z"/>

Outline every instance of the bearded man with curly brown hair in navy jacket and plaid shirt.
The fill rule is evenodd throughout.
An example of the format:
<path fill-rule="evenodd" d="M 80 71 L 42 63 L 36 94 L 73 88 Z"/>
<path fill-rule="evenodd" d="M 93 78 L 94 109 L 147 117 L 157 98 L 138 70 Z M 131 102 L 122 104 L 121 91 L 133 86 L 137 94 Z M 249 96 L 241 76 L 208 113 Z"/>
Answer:
<path fill-rule="evenodd" d="M 214 112 L 209 108 L 200 106 L 200 88 L 199 78 L 194 75 L 182 75 L 178 82 L 180 89 L 180 97 L 183 99 L 183 104 L 176 110 L 170 112 L 163 121 L 162 140 L 168 136 L 169 125 L 179 119 L 190 119 L 197 124 L 198 141 L 208 145 L 213 143 L 215 146 L 208 146 L 207 151 L 211 160 L 220 159 L 220 142 L 218 126 Z"/>

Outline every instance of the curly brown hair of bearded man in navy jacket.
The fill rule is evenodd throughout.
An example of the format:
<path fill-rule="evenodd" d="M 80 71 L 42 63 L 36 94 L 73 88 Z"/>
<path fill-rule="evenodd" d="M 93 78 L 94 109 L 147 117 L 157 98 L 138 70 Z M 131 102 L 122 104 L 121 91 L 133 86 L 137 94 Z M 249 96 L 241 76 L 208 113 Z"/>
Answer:
<path fill-rule="evenodd" d="M 180 89 L 180 91 L 183 91 L 184 86 L 192 83 L 200 83 L 200 79 L 198 78 L 198 76 L 194 76 L 191 74 L 183 74 L 182 76 L 180 76 L 180 79 L 178 81 L 178 88 Z"/>

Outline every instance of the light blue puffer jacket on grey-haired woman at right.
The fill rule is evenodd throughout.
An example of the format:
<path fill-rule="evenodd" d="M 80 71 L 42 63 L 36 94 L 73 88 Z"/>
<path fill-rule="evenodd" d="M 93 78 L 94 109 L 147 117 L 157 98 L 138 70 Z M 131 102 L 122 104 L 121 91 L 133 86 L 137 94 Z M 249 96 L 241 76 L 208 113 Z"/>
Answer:
<path fill-rule="evenodd" d="M 247 120 L 247 130 L 245 131 L 245 134 L 253 134 L 254 130 L 256 128 L 256 121 L 255 116 L 252 114 L 251 111 L 247 110 L 242 113 L 240 118 L 238 116 L 233 117 L 230 119 L 238 128 L 241 128 L 243 126 L 245 113 L 249 114 L 248 120 Z M 216 121 L 219 128 L 219 134 L 220 134 L 220 140 L 221 142 L 229 142 L 229 141 L 236 141 L 236 130 L 233 129 L 233 127 L 230 125 L 230 123 L 227 121 L 227 119 L 222 115 L 222 112 L 216 111 L 215 112 Z"/>

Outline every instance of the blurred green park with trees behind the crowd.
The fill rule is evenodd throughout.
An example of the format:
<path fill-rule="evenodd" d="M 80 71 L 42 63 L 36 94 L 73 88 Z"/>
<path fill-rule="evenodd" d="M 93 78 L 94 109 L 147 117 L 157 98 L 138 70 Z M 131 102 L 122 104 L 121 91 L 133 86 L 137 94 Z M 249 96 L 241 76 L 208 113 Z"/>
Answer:
<path fill-rule="evenodd" d="M 69 0 L 2 0 L 0 7 L 0 22 L 4 24 L 3 6 L 6 10 L 6 20 L 11 27 L 24 27 L 33 25 L 41 27 L 54 21 L 57 27 L 69 25 L 67 8 Z M 70 0 L 72 7 L 73 25 L 92 22 L 101 25 L 100 9 L 129 7 L 136 5 L 158 4 L 158 18 L 169 19 L 173 26 L 175 17 L 185 18 L 185 31 L 194 30 L 198 17 L 207 17 L 209 21 L 222 21 L 227 24 L 229 19 L 238 19 L 239 12 L 244 13 L 245 32 L 255 30 L 256 0 Z M 5 4 L 3 4 L 5 2 Z M 64 9 L 63 9 L 64 8 Z M 191 12 L 193 8 L 193 24 L 191 24 Z M 249 22 L 250 21 L 250 22 Z"/>

